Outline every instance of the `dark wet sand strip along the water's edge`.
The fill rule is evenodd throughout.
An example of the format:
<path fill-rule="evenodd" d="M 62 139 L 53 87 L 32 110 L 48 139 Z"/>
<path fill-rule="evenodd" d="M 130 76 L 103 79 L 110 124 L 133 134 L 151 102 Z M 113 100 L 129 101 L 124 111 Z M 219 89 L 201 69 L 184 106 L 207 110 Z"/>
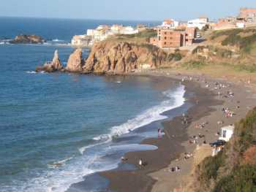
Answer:
<path fill-rule="evenodd" d="M 142 158 L 146 162 L 146 166 L 143 168 L 138 166 L 135 171 L 112 170 L 99 173 L 110 181 L 109 190 L 117 192 L 151 191 L 157 181 L 148 174 L 167 167 L 170 161 L 184 153 L 185 149 L 181 143 L 189 139 L 187 128 L 190 123 L 209 115 L 210 112 L 214 111 L 214 106 L 222 104 L 222 101 L 215 99 L 215 93 L 201 88 L 199 83 L 187 81 L 184 82 L 184 85 L 186 85 L 188 93 L 194 93 L 192 96 L 187 96 L 188 101 L 193 104 L 193 107 L 186 113 L 189 116 L 189 123 L 183 125 L 181 117 L 165 120 L 162 123 L 165 131 L 164 137 L 145 139 L 141 142 L 141 144 L 155 145 L 158 147 L 157 150 L 131 152 L 125 155 L 128 158 L 127 163 L 135 164 L 135 166 L 138 166 L 138 161 Z"/>

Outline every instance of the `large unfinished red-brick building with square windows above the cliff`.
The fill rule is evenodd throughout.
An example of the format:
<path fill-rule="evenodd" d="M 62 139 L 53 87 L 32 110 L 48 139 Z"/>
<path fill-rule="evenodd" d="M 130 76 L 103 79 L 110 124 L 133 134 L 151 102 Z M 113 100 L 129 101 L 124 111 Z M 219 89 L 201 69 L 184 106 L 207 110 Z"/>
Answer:
<path fill-rule="evenodd" d="M 150 43 L 162 48 L 191 46 L 194 42 L 195 34 L 195 28 L 186 28 L 183 31 L 158 28 L 157 37 L 151 38 Z"/>

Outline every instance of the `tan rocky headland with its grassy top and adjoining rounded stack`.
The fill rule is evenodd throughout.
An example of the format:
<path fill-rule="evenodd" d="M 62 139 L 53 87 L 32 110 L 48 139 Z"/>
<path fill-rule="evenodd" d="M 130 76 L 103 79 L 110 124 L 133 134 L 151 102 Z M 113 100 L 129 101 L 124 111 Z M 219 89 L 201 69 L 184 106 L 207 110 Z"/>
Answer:
<path fill-rule="evenodd" d="M 83 58 L 83 50 L 78 48 L 69 56 L 65 68 L 47 72 L 127 74 L 170 66 L 171 61 L 181 60 L 183 55 L 179 50 L 170 53 L 150 45 L 148 39 L 154 35 L 154 30 L 146 30 L 132 36 L 110 37 L 95 43 L 88 58 Z"/>

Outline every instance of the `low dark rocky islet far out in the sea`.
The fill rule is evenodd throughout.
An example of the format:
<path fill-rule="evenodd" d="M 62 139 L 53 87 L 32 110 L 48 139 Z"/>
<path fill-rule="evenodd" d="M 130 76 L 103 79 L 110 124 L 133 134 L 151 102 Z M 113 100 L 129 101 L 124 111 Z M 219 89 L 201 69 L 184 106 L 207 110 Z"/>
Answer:
<path fill-rule="evenodd" d="M 15 37 L 15 39 L 13 39 L 12 41 L 10 41 L 10 43 L 12 44 L 42 44 L 43 42 L 45 42 L 45 39 L 43 39 L 42 37 L 40 37 L 39 35 L 24 35 L 24 34 L 20 34 L 18 36 Z"/>

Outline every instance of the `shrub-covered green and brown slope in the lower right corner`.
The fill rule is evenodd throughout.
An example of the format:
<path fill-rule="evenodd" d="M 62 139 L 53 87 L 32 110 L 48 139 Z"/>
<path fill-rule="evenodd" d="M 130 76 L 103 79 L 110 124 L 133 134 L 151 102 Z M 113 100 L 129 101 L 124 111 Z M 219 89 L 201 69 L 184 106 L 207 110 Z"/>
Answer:
<path fill-rule="evenodd" d="M 256 108 L 236 124 L 233 139 L 225 149 L 197 167 L 198 191 L 255 192 L 256 164 L 251 163 L 256 158 L 255 144 Z"/>

